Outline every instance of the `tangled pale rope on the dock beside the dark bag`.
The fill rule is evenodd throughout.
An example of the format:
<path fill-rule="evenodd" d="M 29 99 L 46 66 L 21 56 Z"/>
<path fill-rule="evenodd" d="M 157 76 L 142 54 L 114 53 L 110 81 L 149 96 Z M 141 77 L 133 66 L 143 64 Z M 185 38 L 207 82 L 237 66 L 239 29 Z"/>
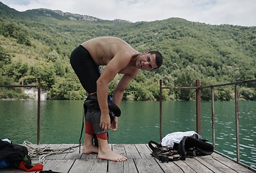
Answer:
<path fill-rule="evenodd" d="M 38 147 L 35 146 L 33 143 L 29 141 L 24 141 L 23 146 L 27 147 L 28 156 L 30 158 L 38 157 L 38 161 L 33 162 L 33 164 L 45 164 L 46 163 L 46 156 L 54 155 L 54 154 L 65 154 L 65 153 L 72 153 L 74 152 L 74 148 L 77 146 L 71 146 L 68 148 L 50 148 L 49 146 L 45 147 Z"/>

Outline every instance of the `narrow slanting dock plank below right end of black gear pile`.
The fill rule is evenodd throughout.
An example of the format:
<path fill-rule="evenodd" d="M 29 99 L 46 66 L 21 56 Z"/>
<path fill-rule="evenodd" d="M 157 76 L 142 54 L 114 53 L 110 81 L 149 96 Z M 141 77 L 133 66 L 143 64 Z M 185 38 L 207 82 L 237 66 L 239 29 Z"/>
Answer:
<path fill-rule="evenodd" d="M 195 158 L 186 158 L 186 161 L 184 162 L 195 170 L 195 172 L 213 173 L 210 169 L 208 169 L 208 167 L 205 167 L 205 165 L 201 164 Z"/>

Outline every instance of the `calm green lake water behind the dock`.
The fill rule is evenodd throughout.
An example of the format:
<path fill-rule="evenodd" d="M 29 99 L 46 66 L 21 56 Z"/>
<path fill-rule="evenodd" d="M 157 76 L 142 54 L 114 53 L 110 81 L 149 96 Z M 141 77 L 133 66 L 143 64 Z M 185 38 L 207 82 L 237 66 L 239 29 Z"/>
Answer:
<path fill-rule="evenodd" d="M 41 102 L 40 143 L 78 143 L 83 101 Z M 212 142 L 211 103 L 202 102 L 202 137 Z M 234 102 L 215 102 L 216 149 L 236 158 Z M 0 101 L 0 138 L 36 143 L 37 101 Z M 119 128 L 110 143 L 159 141 L 159 102 L 122 102 Z M 256 168 L 256 102 L 239 102 L 241 160 Z M 195 102 L 163 102 L 163 137 L 196 130 Z"/>

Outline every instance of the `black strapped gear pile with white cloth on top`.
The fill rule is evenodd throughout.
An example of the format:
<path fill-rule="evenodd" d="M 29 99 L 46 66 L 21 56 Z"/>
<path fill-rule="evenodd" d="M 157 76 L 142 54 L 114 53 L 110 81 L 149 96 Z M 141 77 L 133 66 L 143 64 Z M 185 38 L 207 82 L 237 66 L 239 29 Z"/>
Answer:
<path fill-rule="evenodd" d="M 174 132 L 166 135 L 161 143 L 149 141 L 151 156 L 162 162 L 185 160 L 186 157 L 205 156 L 213 153 L 213 145 L 195 131 Z"/>

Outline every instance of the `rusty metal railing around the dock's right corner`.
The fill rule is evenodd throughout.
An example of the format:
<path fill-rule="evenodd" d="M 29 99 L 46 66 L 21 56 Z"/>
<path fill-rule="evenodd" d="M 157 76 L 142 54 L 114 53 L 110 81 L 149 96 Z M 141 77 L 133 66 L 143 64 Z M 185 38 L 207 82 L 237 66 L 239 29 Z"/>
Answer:
<path fill-rule="evenodd" d="M 162 117 L 163 117 L 163 111 L 162 111 L 162 102 L 163 102 L 163 96 L 162 96 L 162 90 L 163 89 L 195 89 L 196 91 L 196 122 L 197 122 L 197 133 L 201 134 L 201 96 L 200 92 L 201 89 L 210 88 L 211 89 L 211 107 L 212 107 L 212 130 L 213 130 L 213 148 L 216 149 L 216 133 L 215 133 L 215 112 L 214 112 L 214 88 L 218 86 L 230 86 L 234 85 L 234 92 L 235 92 L 235 115 L 236 115 L 236 161 L 239 164 L 242 164 L 240 162 L 240 146 L 239 146 L 239 84 L 246 84 L 249 82 L 256 82 L 256 79 L 247 80 L 247 81 L 235 81 L 231 83 L 226 84 L 216 84 L 216 85 L 210 85 L 210 86 L 200 86 L 200 80 L 197 79 L 195 82 L 195 86 L 172 86 L 172 87 L 165 87 L 163 86 L 162 79 L 160 80 L 160 141 L 162 139 L 162 133 L 163 133 L 163 125 L 162 125 Z M 245 165 L 246 167 L 249 167 Z"/>

